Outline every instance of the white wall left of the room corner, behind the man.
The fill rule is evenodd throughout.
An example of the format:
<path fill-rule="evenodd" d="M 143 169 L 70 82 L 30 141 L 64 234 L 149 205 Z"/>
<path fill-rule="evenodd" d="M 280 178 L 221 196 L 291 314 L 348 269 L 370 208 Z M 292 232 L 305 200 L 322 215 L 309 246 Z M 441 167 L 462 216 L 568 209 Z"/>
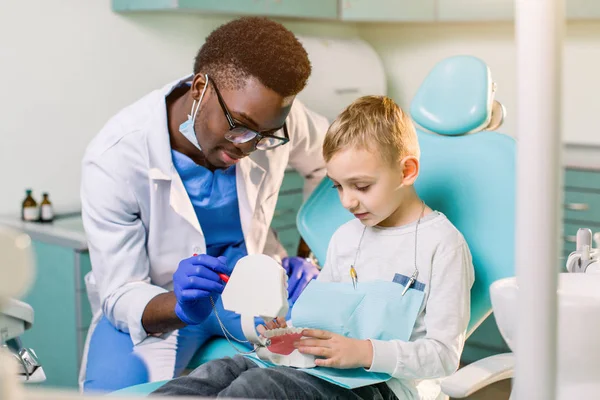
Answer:
<path fill-rule="evenodd" d="M 79 203 L 80 160 L 106 120 L 191 72 L 229 18 L 112 13 L 109 0 L 0 1 L 0 213 L 25 188 Z M 355 36 L 353 24 L 286 22 L 298 34 Z"/>

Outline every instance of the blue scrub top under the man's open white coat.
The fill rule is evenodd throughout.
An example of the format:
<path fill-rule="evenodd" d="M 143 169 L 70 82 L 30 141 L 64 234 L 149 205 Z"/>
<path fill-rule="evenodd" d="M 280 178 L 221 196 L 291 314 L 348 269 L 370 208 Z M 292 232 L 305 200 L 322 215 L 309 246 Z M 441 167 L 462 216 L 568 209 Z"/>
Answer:
<path fill-rule="evenodd" d="M 171 150 L 171 154 L 202 227 L 206 254 L 225 256 L 227 265 L 233 267 L 248 254 L 240 220 L 235 165 L 211 171 L 178 151 Z"/>

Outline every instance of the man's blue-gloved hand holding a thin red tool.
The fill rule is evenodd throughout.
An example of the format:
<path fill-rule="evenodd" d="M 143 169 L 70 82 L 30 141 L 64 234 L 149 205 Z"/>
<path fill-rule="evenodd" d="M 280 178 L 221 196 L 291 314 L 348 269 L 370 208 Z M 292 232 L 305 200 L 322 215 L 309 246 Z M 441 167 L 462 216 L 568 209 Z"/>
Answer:
<path fill-rule="evenodd" d="M 173 274 L 173 291 L 177 297 L 175 314 L 188 325 L 202 323 L 212 312 L 213 301 L 217 301 L 225 283 L 218 273 L 230 275 L 225 257 L 200 254 L 179 263 Z"/>

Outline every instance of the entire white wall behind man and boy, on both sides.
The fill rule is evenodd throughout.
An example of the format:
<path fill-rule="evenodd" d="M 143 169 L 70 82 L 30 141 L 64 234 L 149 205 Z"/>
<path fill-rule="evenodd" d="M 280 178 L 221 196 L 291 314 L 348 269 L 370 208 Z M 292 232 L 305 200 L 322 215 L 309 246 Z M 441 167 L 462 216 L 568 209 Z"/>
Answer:
<path fill-rule="evenodd" d="M 80 160 L 123 106 L 187 74 L 208 33 L 229 18 L 117 15 L 110 1 L 0 1 L 0 214 L 17 212 L 27 187 L 57 208 L 79 204 Z M 514 134 L 512 24 L 348 24 L 282 21 L 297 34 L 361 37 L 381 55 L 390 94 L 406 106 L 429 69 L 460 53 L 483 58 Z M 600 22 L 571 23 L 565 48 L 568 141 L 600 145 Z"/>

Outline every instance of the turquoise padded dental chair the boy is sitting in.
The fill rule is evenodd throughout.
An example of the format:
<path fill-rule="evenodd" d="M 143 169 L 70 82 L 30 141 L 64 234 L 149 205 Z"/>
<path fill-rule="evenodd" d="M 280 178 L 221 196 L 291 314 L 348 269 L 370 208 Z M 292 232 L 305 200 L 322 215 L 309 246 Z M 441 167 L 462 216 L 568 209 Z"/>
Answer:
<path fill-rule="evenodd" d="M 473 256 L 476 278 L 467 334 L 491 313 L 492 282 L 514 275 L 515 141 L 493 132 L 504 116 L 494 94 L 495 85 L 483 61 L 451 57 L 433 68 L 410 109 L 422 127 L 417 131 L 421 145 L 417 191 L 463 233 Z M 331 186 L 328 179 L 321 182 L 297 217 L 298 230 L 321 265 L 335 230 L 354 218 Z M 208 345 L 209 349 L 219 345 L 214 358 L 233 355 L 230 347 L 220 347 L 223 342 Z M 163 383 L 114 393 L 146 395 Z"/>

